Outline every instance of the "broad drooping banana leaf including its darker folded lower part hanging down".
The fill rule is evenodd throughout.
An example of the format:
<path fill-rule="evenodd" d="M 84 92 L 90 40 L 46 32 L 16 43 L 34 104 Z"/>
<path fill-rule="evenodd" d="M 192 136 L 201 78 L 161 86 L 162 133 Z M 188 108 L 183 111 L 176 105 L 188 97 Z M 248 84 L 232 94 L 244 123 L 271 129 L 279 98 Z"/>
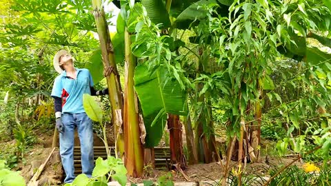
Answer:
<path fill-rule="evenodd" d="M 146 127 L 146 147 L 154 147 L 161 140 L 167 113 L 187 114 L 184 107 L 185 92 L 178 81 L 166 81 L 165 74 L 166 71 L 161 68 L 150 74 L 146 64 L 137 66 L 134 72 L 134 87 Z"/>

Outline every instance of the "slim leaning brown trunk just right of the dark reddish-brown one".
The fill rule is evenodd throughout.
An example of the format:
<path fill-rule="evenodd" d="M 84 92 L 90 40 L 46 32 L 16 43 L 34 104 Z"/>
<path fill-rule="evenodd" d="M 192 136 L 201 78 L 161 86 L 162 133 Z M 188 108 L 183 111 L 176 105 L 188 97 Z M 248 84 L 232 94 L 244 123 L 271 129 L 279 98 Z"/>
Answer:
<path fill-rule="evenodd" d="M 194 134 L 192 130 L 190 115 L 184 117 L 184 127 L 186 136 L 186 145 L 188 146 L 188 164 L 193 165 L 198 163 L 197 148 L 194 144 Z"/>

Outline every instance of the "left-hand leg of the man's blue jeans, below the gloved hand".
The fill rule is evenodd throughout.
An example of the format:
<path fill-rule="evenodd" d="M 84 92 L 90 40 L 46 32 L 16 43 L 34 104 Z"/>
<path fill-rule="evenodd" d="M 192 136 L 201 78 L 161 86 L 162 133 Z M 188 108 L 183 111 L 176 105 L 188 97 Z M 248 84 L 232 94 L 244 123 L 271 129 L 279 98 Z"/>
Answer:
<path fill-rule="evenodd" d="M 60 155 L 63 169 L 66 172 L 64 183 L 74 180 L 74 116 L 62 114 L 64 132 L 60 133 Z"/>

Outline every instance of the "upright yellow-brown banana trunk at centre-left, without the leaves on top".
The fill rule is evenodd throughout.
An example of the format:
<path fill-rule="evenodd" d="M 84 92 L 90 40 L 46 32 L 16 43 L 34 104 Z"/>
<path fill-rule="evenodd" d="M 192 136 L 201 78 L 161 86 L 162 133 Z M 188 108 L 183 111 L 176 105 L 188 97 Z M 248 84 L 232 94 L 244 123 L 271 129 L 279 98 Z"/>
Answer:
<path fill-rule="evenodd" d="M 128 30 L 125 31 L 126 69 L 124 87 L 124 138 L 126 149 L 126 169 L 128 175 L 143 176 L 143 145 L 140 138 L 139 114 L 137 94 L 134 91 L 134 68 L 137 59 L 131 52 L 131 38 Z"/>

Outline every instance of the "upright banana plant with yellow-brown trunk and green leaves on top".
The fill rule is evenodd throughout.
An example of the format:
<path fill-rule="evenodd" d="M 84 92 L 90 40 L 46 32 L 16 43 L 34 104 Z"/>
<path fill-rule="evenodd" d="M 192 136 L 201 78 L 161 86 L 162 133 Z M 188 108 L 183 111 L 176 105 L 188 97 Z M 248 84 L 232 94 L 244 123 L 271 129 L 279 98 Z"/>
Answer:
<path fill-rule="evenodd" d="M 125 43 L 125 85 L 124 85 L 124 139 L 126 149 L 126 168 L 128 174 L 134 177 L 143 176 L 143 121 L 139 117 L 137 94 L 134 90 L 134 69 L 137 58 L 132 54 L 130 19 L 134 17 L 134 0 L 121 4 L 117 32 L 124 34 Z M 123 25 L 121 25 L 121 23 Z"/>

